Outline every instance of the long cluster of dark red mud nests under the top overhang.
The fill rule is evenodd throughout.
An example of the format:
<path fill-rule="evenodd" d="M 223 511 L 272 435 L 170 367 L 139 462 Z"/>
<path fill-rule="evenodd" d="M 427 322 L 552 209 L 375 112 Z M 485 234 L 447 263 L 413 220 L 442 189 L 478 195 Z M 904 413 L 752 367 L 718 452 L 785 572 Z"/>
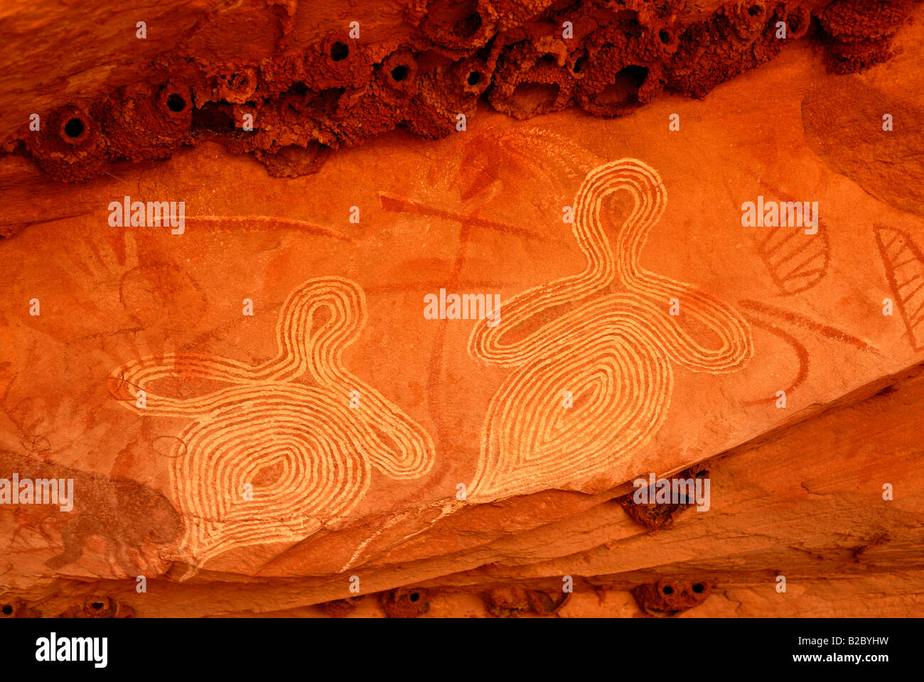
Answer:
<path fill-rule="evenodd" d="M 161 55 L 138 82 L 46 112 L 39 131 L 5 147 L 82 181 L 113 162 L 217 140 L 274 176 L 297 177 L 397 127 L 444 137 L 482 97 L 517 118 L 572 104 L 623 116 L 665 89 L 700 97 L 809 31 L 833 70 L 855 71 L 888 58 L 913 4 L 751 0 L 697 15 L 683 0 L 408 0 L 407 36 L 385 54 L 346 27 L 295 49 L 282 12 L 274 55 L 234 67 Z"/>

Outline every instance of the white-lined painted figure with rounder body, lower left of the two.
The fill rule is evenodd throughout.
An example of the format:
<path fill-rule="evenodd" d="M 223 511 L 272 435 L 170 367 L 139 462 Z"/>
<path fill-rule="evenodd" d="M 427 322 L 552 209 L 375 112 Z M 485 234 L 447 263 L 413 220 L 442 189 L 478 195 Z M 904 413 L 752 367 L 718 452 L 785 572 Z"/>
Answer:
<path fill-rule="evenodd" d="M 196 564 L 234 547 L 301 540 L 343 518 L 368 490 L 372 466 L 394 479 L 431 468 L 429 434 L 343 369 L 341 354 L 365 316 L 356 283 L 312 279 L 286 299 L 274 359 L 251 367 L 174 354 L 113 372 L 113 392 L 127 408 L 191 420 L 171 453 L 170 479 Z M 167 378 L 225 386 L 158 395 L 156 382 Z"/>

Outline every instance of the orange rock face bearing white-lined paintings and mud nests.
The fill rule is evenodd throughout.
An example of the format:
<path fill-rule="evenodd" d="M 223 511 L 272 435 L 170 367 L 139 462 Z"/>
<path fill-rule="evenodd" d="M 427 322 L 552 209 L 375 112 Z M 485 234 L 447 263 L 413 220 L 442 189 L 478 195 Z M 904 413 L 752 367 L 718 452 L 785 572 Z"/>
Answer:
<path fill-rule="evenodd" d="M 919 8 L 271 5 L 8 96 L 0 617 L 924 613 Z"/>

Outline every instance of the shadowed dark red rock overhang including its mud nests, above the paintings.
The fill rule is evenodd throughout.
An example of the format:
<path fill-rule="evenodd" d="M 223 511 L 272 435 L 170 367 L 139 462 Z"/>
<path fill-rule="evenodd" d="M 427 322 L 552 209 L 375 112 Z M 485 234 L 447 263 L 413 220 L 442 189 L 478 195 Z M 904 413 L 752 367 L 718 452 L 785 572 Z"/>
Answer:
<path fill-rule="evenodd" d="M 102 6 L 59 12 L 39 3 L 0 15 L 0 34 L 41 27 L 30 45 L 0 47 L 23 74 L 7 95 L 16 114 L 0 119 L 0 149 L 80 181 L 119 160 L 164 159 L 217 140 L 253 152 L 274 176 L 295 177 L 317 171 L 331 150 L 398 126 L 444 137 L 482 95 L 517 118 L 571 104 L 622 116 L 665 89 L 701 97 L 809 31 L 830 68 L 856 71 L 890 56 L 912 4 L 249 0 L 129 5 L 113 16 Z M 93 33 L 99 47 L 88 42 Z M 36 79 L 59 67 L 71 40 L 74 55 L 46 79 L 52 91 L 37 93 Z"/>

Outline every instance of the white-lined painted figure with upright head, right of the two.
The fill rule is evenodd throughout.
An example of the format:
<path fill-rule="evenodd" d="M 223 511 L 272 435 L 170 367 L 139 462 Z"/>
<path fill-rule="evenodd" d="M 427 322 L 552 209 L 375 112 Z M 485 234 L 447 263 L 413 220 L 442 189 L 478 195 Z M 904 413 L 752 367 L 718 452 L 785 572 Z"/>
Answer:
<path fill-rule="evenodd" d="M 619 190 L 631 195 L 634 207 L 611 245 L 601 207 Z M 518 294 L 503 304 L 501 323 L 482 322 L 472 331 L 472 356 L 514 371 L 488 408 L 469 500 L 602 473 L 663 423 L 672 362 L 691 371 L 727 372 L 751 356 L 750 328 L 737 311 L 639 264 L 666 202 L 661 177 L 647 164 L 621 159 L 595 168 L 574 206 L 584 271 Z M 612 292 L 617 278 L 625 292 Z M 674 298 L 678 316 L 669 314 Z M 567 310 L 556 311 L 559 306 Z M 685 326 L 709 330 L 716 342 L 701 346 Z M 508 335 L 515 337 L 505 341 Z M 564 408 L 568 395 L 573 407 Z"/>

